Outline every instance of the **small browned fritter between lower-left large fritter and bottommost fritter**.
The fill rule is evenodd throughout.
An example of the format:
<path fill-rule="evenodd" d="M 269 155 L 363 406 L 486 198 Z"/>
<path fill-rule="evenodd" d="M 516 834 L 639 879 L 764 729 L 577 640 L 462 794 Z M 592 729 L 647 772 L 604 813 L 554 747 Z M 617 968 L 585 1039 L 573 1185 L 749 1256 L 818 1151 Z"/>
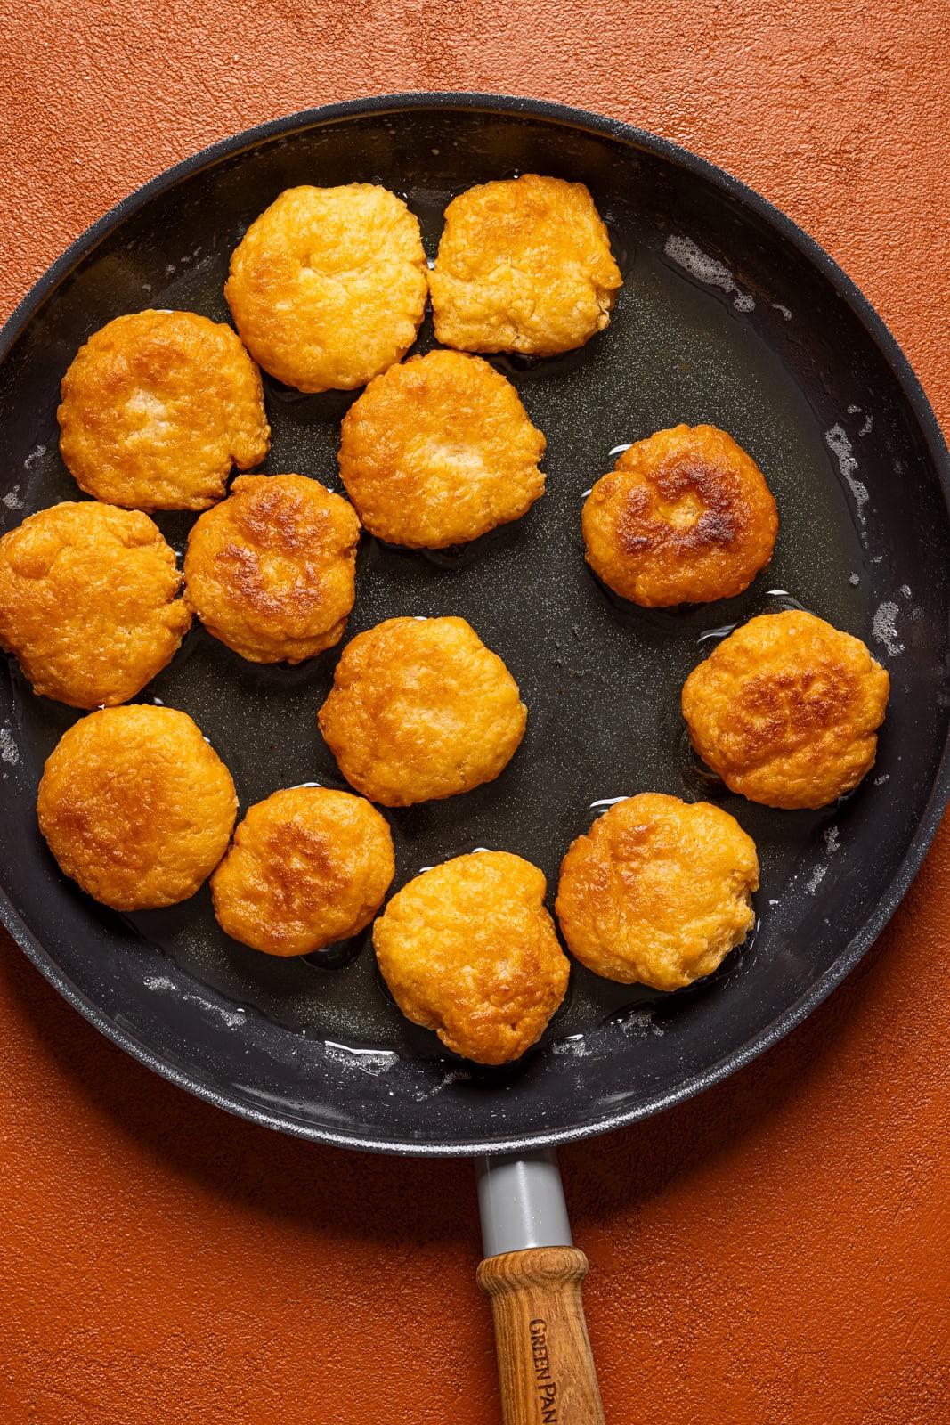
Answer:
<path fill-rule="evenodd" d="M 362 797 L 292 787 L 249 807 L 211 878 L 215 915 L 268 955 L 309 955 L 356 935 L 393 879 L 393 838 Z"/>

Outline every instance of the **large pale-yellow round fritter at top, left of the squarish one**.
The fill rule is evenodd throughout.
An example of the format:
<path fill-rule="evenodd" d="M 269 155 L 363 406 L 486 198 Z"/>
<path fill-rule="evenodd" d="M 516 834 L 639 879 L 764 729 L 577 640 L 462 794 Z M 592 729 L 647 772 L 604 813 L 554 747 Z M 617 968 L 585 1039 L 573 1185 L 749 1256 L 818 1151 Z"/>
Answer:
<path fill-rule="evenodd" d="M 419 221 L 379 184 L 288 188 L 231 256 L 248 351 L 288 386 L 352 390 L 406 355 L 426 311 Z"/>

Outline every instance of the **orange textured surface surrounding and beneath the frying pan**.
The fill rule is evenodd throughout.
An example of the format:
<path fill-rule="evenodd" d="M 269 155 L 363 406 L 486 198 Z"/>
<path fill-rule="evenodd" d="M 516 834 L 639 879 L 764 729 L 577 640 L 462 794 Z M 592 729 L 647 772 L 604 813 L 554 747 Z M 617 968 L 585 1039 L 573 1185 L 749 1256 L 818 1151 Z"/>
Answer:
<path fill-rule="evenodd" d="M 20 0 L 0 308 L 249 124 L 403 88 L 583 104 L 790 214 L 950 426 L 947 10 L 879 0 Z M 950 1419 L 950 826 L 850 980 L 738 1077 L 563 1153 L 611 1425 Z M 0 942 L 3 1425 L 499 1419 L 467 1163 L 301 1144 L 150 1076 Z"/>

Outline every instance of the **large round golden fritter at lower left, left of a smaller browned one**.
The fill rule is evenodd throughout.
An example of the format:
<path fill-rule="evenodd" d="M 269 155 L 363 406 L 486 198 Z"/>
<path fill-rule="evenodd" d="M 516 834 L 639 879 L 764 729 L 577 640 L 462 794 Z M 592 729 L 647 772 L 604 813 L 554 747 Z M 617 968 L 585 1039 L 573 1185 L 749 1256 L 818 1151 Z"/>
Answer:
<path fill-rule="evenodd" d="M 228 848 L 238 798 L 185 712 L 80 718 L 46 761 L 37 815 L 60 869 L 115 911 L 187 901 Z"/>

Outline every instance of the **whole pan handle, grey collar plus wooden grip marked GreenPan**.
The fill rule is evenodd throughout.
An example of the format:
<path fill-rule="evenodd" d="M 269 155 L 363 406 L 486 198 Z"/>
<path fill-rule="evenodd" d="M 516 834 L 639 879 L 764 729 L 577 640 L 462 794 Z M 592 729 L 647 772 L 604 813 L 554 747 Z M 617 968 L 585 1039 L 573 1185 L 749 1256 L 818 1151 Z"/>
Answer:
<path fill-rule="evenodd" d="M 548 1150 L 476 1166 L 504 1425 L 604 1425 L 557 1159 Z"/>

